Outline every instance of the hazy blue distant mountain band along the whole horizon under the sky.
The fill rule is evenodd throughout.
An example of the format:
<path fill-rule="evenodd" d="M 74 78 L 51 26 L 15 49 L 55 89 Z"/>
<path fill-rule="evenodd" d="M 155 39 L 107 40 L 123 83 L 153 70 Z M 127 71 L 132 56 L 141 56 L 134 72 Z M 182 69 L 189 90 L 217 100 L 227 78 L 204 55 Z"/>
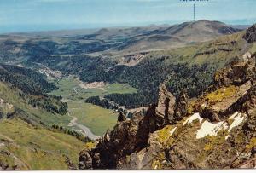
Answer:
<path fill-rule="evenodd" d="M 30 54 L 118 56 L 180 48 L 240 31 L 241 26 L 198 20 L 173 26 L 5 34 L 0 35 L 0 44 L 3 54 L 12 58 Z"/>

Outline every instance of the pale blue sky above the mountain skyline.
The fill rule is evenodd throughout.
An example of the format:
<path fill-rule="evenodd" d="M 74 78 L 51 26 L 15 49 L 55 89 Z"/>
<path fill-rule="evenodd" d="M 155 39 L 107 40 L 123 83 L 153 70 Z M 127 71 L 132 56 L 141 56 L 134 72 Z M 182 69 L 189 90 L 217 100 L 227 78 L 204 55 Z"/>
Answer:
<path fill-rule="evenodd" d="M 0 0 L 0 32 L 177 24 L 256 23 L 256 0 Z"/>

